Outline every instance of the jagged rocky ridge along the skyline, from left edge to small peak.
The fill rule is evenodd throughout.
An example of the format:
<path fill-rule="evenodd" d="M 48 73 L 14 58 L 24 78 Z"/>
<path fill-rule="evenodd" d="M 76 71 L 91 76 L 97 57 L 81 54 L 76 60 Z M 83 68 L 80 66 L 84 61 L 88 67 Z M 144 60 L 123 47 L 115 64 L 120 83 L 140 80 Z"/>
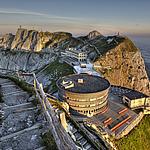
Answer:
<path fill-rule="evenodd" d="M 82 47 L 83 43 L 97 37 L 104 37 L 98 31 L 92 31 L 85 37 L 74 38 L 67 32 L 38 32 L 19 28 L 16 35 L 6 34 L 1 38 L 0 46 L 12 50 L 41 51 L 45 48 L 59 47 L 67 41 L 69 47 Z M 64 47 L 67 47 L 66 45 Z"/>

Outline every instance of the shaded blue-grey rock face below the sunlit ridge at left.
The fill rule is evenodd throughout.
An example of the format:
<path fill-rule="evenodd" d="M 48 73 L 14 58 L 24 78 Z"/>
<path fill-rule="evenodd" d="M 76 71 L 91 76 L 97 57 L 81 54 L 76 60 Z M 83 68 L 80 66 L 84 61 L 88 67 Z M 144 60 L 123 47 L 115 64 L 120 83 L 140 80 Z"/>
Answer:
<path fill-rule="evenodd" d="M 0 51 L 0 68 L 8 70 L 34 71 L 53 62 L 54 53 L 33 53 L 24 51 Z"/>

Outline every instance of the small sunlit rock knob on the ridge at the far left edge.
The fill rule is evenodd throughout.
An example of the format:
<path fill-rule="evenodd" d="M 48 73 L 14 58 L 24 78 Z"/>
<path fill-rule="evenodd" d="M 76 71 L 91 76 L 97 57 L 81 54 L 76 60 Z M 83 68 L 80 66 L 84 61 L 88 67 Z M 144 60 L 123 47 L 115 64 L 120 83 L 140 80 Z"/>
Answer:
<path fill-rule="evenodd" d="M 11 33 L 5 34 L 4 36 L 0 38 L 0 47 L 4 49 L 10 49 L 13 40 L 14 40 L 13 34 Z"/>

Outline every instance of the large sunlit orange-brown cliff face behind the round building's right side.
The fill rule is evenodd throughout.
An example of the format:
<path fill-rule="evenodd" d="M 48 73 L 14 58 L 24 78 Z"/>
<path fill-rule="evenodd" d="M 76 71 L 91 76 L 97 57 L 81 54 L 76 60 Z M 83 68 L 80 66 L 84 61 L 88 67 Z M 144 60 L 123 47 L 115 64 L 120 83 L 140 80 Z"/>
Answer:
<path fill-rule="evenodd" d="M 95 65 L 111 84 L 120 85 L 150 95 L 150 82 L 145 70 L 141 52 L 127 38 L 105 55 L 98 58 Z"/>

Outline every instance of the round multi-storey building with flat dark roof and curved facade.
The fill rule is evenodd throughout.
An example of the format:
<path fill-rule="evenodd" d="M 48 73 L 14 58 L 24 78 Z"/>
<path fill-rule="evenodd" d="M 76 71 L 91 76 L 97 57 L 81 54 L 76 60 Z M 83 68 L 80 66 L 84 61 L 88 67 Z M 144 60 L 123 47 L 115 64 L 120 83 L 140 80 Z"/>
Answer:
<path fill-rule="evenodd" d="M 79 114 L 93 116 L 107 109 L 110 83 L 104 78 L 75 74 L 59 79 L 57 86 L 59 98 Z"/>

